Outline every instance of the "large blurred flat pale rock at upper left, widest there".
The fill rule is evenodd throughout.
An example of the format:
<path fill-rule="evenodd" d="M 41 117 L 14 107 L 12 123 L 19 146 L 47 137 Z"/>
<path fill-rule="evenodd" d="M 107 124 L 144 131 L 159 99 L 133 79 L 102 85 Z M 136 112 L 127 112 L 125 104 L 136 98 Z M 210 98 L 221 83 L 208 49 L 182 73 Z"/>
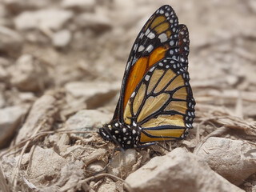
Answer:
<path fill-rule="evenodd" d="M 70 10 L 26 11 L 14 19 L 14 24 L 18 30 L 59 30 L 72 17 L 73 13 Z"/>

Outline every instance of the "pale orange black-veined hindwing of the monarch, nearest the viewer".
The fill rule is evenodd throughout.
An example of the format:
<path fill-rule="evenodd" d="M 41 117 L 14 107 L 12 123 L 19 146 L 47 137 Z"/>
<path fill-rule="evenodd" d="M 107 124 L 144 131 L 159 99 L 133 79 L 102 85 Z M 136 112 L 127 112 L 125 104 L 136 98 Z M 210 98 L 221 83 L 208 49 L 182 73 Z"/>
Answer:
<path fill-rule="evenodd" d="M 181 62 L 164 58 L 146 72 L 124 111 L 128 125 L 142 127 L 140 142 L 184 138 L 194 120 L 189 74 Z"/>

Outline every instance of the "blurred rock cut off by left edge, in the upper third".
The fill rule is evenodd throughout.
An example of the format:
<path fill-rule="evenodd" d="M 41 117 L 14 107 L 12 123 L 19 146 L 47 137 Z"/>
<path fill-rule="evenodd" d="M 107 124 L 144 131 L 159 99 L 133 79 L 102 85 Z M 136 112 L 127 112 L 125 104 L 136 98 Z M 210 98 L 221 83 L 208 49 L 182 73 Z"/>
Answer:
<path fill-rule="evenodd" d="M 22 50 L 23 38 L 16 31 L 0 26 L 0 51 L 6 54 L 18 55 Z"/>

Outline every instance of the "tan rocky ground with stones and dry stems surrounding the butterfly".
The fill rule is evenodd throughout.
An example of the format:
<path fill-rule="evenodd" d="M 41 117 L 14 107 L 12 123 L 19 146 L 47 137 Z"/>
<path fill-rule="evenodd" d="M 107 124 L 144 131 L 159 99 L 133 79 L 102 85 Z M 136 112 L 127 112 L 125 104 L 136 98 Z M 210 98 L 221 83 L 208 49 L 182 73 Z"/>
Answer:
<path fill-rule="evenodd" d="M 112 158 L 95 131 L 164 4 L 190 30 L 194 129 Z M 255 17 L 254 0 L 0 0 L 0 191 L 256 191 Z"/>

